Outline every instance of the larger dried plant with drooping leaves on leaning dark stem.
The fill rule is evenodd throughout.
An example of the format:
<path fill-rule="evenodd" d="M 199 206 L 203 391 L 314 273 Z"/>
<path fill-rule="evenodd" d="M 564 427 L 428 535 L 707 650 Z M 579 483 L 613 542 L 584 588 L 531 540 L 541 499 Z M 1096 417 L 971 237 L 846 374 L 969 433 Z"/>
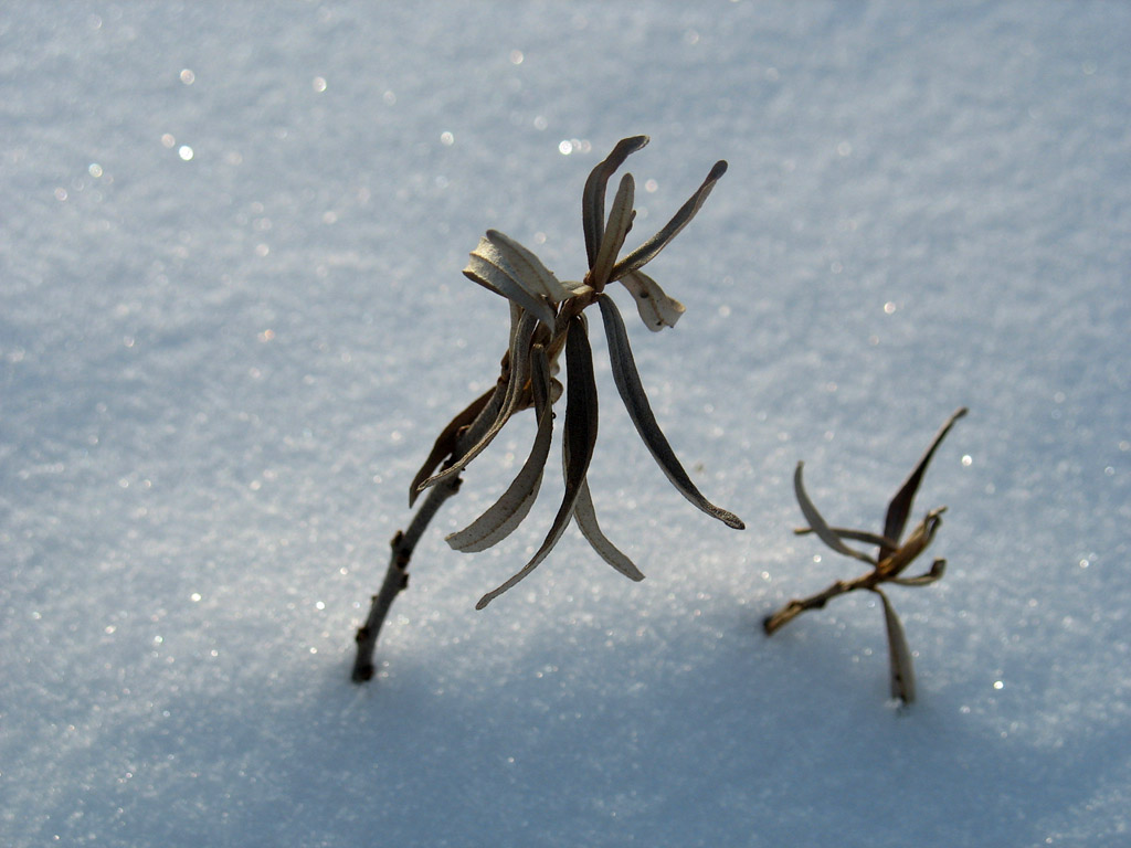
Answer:
<path fill-rule="evenodd" d="M 408 529 L 392 539 L 392 557 L 385 582 L 380 592 L 373 596 L 365 624 L 357 631 L 354 681 L 372 676 L 377 635 L 389 605 L 406 586 L 406 569 L 413 548 L 432 516 L 458 490 L 460 471 L 491 443 L 513 415 L 533 407 L 537 431 L 529 457 L 515 481 L 482 516 L 465 529 L 448 536 L 447 540 L 457 551 L 483 551 L 506 538 L 526 518 L 537 496 L 550 456 L 553 405 L 563 393 L 561 383 L 555 379 L 563 352 L 567 372 L 562 433 L 564 496 L 534 556 L 513 577 L 484 595 L 476 608 L 482 609 L 537 568 L 571 521 L 577 523 L 582 536 L 605 562 L 632 580 L 644 579 L 632 561 L 602 533 L 586 482 L 597 440 L 597 389 L 588 325 L 582 312 L 594 303 L 604 325 L 616 390 L 648 450 L 672 484 L 691 503 L 729 527 L 743 528 L 737 517 L 700 494 L 676 459 L 648 404 L 620 311 L 605 291 L 611 283 L 622 283 L 636 301 L 648 329 L 658 331 L 673 327 L 684 311 L 683 304 L 668 297 L 640 269 L 688 225 L 726 172 L 725 162 L 716 163 L 691 199 L 658 233 L 618 259 L 636 215 L 632 209 L 632 175 L 621 178 L 607 219 L 605 190 L 610 178 L 628 156 L 646 144 L 646 136 L 621 140 L 586 181 L 581 223 L 589 268 L 580 283 L 559 282 L 534 253 L 494 230 L 487 231 L 472 252 L 464 275 L 509 302 L 509 345 L 495 386 L 472 401 L 443 429 L 412 482 L 409 505 L 422 493 L 428 494 Z"/>

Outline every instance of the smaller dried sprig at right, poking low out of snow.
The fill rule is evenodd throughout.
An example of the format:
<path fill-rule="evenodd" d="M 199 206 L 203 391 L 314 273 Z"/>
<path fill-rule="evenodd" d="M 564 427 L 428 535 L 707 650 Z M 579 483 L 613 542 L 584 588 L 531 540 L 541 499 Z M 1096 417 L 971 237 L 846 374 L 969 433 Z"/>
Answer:
<path fill-rule="evenodd" d="M 907 640 L 904 637 L 904 628 L 891 607 L 891 602 L 880 588 L 880 583 L 893 583 L 896 586 L 927 586 L 939 580 L 947 566 L 946 560 L 935 560 L 930 571 L 917 577 L 903 577 L 907 566 L 926 550 L 934 538 L 939 526 L 942 523 L 942 513 L 946 507 L 939 507 L 926 513 L 918 526 L 912 530 L 910 535 L 903 542 L 904 528 L 907 526 L 907 517 L 910 514 L 912 503 L 915 500 L 915 492 L 918 490 L 926 471 L 927 464 L 947 433 L 955 425 L 955 422 L 966 415 L 966 407 L 957 409 L 947 423 L 942 425 L 926 449 L 923 458 L 920 459 L 915 470 L 904 481 L 896 496 L 888 504 L 888 514 L 883 522 L 883 534 L 875 535 L 866 530 L 848 530 L 840 527 L 829 527 L 824 518 L 818 512 L 813 502 L 805 494 L 805 486 L 802 482 L 802 468 L 804 462 L 797 462 L 797 470 L 794 473 L 793 485 L 797 495 L 797 504 L 801 512 L 809 521 L 809 527 L 795 530 L 796 534 L 815 533 L 818 538 L 839 554 L 861 560 L 872 566 L 872 570 L 855 580 L 838 580 L 824 591 L 812 595 L 800 600 L 791 600 L 774 615 L 767 616 L 762 622 L 767 635 L 772 634 L 778 629 L 785 626 L 806 609 L 821 609 L 830 599 L 838 595 L 844 595 L 856 589 L 866 589 L 880 596 L 883 604 L 883 621 L 888 630 L 888 658 L 891 667 L 891 696 L 898 698 L 904 703 L 915 700 L 915 672 L 912 665 L 912 654 L 907 648 Z M 845 539 L 861 542 L 865 545 L 874 545 L 879 548 L 877 554 L 871 554 L 849 547 Z"/>

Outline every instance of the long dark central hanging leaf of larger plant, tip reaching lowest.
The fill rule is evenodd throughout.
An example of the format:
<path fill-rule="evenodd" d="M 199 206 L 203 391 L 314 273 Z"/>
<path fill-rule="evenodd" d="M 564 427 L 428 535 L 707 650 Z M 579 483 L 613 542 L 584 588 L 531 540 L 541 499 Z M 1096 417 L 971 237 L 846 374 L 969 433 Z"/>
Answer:
<path fill-rule="evenodd" d="M 482 609 L 534 571 L 553 551 L 573 517 L 573 508 L 585 484 L 589 460 L 593 459 L 593 449 L 597 443 L 597 383 L 593 375 L 593 351 L 586 336 L 584 315 L 570 319 L 566 336 L 566 370 L 569 373 L 566 382 L 566 426 L 562 432 L 566 494 L 562 496 L 561 507 L 537 553 L 521 571 L 480 598 L 475 605 L 476 609 Z"/>

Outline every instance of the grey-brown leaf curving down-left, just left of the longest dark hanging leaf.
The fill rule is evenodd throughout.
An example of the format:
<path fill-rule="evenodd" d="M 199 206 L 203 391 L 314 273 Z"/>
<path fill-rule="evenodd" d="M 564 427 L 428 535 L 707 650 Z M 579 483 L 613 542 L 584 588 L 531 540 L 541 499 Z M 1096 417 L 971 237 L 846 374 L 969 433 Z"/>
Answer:
<path fill-rule="evenodd" d="M 534 390 L 534 409 L 538 419 L 538 431 L 530 448 L 530 455 L 523 464 L 502 496 L 482 516 L 459 533 L 447 537 L 447 543 L 456 551 L 475 553 L 485 551 L 507 538 L 526 518 L 542 485 L 542 471 L 550 456 L 553 435 L 553 410 L 550 406 L 550 363 L 542 345 L 535 345 L 532 354 L 534 373 L 530 378 Z"/>

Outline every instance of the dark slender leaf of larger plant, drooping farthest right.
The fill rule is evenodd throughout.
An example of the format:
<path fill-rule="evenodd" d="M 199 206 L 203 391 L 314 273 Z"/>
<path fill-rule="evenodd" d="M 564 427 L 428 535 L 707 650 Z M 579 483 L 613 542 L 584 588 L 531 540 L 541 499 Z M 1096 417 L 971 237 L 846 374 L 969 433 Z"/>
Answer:
<path fill-rule="evenodd" d="M 640 382 L 636 361 L 632 358 L 632 348 L 629 346 L 624 321 L 621 319 L 621 313 L 618 311 L 616 304 L 607 295 L 598 295 L 597 303 L 601 306 L 601 318 L 605 323 L 605 338 L 608 343 L 608 356 L 613 366 L 613 381 L 616 383 L 616 390 L 624 401 L 624 407 L 629 412 L 632 424 L 636 425 L 637 432 L 640 434 L 644 443 L 651 451 L 651 456 L 655 457 L 664 474 L 672 482 L 672 485 L 691 503 L 728 527 L 737 530 L 744 529 L 745 525 L 742 523 L 737 516 L 719 509 L 703 497 L 691 482 L 691 478 L 688 477 L 688 473 L 683 470 L 683 466 L 676 459 L 672 445 L 668 444 L 667 438 L 656 423 L 656 416 L 653 415 L 651 406 L 648 404 L 648 396 L 645 393 L 644 386 Z"/>

